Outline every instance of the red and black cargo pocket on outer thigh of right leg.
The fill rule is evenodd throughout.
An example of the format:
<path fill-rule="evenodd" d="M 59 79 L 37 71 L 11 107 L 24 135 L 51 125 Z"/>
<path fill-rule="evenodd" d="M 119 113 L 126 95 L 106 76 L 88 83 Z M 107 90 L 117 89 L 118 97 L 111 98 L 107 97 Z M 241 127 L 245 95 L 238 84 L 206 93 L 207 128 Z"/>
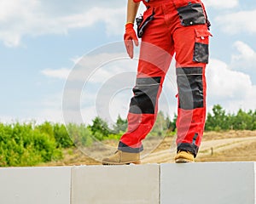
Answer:
<path fill-rule="evenodd" d="M 207 30 L 195 30 L 195 47 L 193 61 L 208 63 L 209 60 L 209 36 Z"/>

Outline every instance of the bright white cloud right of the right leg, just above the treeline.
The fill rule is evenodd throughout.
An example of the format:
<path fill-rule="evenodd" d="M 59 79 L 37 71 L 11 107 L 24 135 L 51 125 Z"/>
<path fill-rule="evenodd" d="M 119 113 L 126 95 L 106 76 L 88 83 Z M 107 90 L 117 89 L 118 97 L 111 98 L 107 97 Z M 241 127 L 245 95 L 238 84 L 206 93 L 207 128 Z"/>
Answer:
<path fill-rule="evenodd" d="M 211 59 L 207 67 L 207 95 L 208 105 L 220 104 L 227 111 L 256 109 L 256 86 L 250 77 L 218 59 Z"/>

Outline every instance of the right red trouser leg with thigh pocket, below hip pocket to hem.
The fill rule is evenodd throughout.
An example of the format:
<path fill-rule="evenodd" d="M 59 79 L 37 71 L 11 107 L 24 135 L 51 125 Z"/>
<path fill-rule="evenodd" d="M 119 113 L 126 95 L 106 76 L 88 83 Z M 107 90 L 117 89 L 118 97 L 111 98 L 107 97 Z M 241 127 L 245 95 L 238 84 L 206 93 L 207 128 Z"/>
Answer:
<path fill-rule="evenodd" d="M 205 70 L 209 35 L 205 25 L 183 26 L 174 33 L 178 88 L 177 151 L 188 150 L 194 156 L 200 147 L 206 120 Z"/>

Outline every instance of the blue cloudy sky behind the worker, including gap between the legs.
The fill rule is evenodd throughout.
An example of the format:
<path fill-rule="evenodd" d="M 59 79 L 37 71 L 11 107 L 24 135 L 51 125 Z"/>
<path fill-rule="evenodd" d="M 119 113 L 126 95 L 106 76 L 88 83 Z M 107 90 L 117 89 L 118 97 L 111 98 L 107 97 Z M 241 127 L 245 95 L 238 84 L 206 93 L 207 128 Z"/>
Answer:
<path fill-rule="evenodd" d="M 256 110 L 256 2 L 204 0 L 212 23 L 207 111 Z M 143 4 L 138 14 L 144 10 Z M 137 70 L 122 42 L 126 0 L 1 0 L 0 122 L 125 118 Z M 83 69 L 82 69 L 83 68 Z M 177 111 L 174 63 L 160 110 Z"/>

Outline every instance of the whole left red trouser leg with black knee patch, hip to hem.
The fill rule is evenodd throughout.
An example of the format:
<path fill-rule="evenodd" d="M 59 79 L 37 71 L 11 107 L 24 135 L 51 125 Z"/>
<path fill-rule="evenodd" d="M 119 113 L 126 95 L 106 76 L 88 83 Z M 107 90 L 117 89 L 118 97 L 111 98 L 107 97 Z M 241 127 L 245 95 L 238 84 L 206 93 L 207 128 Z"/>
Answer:
<path fill-rule="evenodd" d="M 150 13 L 150 10 L 147 12 Z M 165 19 L 161 12 L 160 7 L 154 8 L 157 18 L 148 24 L 143 34 L 137 82 L 127 116 L 128 130 L 119 141 L 119 150 L 143 150 L 142 140 L 154 126 L 158 99 L 173 54 L 172 37 L 163 26 Z"/>

